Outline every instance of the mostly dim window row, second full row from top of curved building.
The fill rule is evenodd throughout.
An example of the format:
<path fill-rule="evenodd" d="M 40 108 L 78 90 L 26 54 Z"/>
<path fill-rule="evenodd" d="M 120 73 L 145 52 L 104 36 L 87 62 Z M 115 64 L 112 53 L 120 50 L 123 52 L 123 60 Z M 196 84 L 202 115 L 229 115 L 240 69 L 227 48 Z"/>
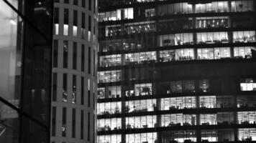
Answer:
<path fill-rule="evenodd" d="M 243 19 L 242 21 L 240 19 Z M 183 19 L 141 21 L 101 27 L 100 36 L 120 36 L 127 34 L 142 34 L 156 31 L 166 30 L 182 30 L 182 29 L 217 29 L 217 28 L 247 28 L 254 24 L 252 16 L 214 16 L 214 17 L 196 17 Z M 195 24 L 195 26 L 193 26 Z"/>

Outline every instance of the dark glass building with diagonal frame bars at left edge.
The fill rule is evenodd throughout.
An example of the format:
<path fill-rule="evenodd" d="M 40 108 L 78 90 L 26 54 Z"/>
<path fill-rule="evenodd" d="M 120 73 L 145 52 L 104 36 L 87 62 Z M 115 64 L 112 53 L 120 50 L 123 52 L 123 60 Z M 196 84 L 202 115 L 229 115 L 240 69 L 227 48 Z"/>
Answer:
<path fill-rule="evenodd" d="M 52 1 L 0 1 L 0 142 L 50 142 Z"/>

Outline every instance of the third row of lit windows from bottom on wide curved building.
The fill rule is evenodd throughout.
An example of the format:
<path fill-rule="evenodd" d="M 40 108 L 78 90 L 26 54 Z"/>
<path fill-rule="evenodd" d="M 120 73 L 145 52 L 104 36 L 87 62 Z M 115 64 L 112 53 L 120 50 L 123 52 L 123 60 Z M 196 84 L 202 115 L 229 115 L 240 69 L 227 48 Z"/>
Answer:
<path fill-rule="evenodd" d="M 255 107 L 256 99 L 251 96 L 237 97 L 237 108 Z M 169 97 L 159 100 L 159 107 L 156 106 L 157 99 L 132 100 L 125 102 L 125 111 L 152 112 L 170 109 L 209 109 L 209 108 L 232 108 L 235 106 L 232 96 L 200 96 L 196 97 Z M 198 104 L 198 105 L 197 105 Z M 199 106 L 199 107 L 198 107 Z M 98 103 L 98 114 L 120 114 L 122 102 Z"/>

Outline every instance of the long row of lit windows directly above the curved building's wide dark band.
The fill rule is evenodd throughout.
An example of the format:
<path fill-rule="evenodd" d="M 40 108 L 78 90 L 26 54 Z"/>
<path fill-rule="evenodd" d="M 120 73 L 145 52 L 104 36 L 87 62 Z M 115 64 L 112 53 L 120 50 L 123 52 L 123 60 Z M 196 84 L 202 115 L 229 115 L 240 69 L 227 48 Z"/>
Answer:
<path fill-rule="evenodd" d="M 243 46 L 234 47 L 233 49 L 234 51 L 231 51 L 229 47 L 219 47 L 204 49 L 171 49 L 165 51 L 146 51 L 140 53 L 124 54 L 123 58 L 121 54 L 114 54 L 108 56 L 100 56 L 99 66 L 109 67 L 131 64 L 150 64 L 168 61 L 189 61 L 195 59 L 230 59 L 231 55 L 234 55 L 234 59 L 251 59 L 252 51 L 255 50 L 255 47 Z M 195 55 L 195 53 L 197 53 L 197 55 Z M 157 54 L 159 55 L 158 58 Z"/>

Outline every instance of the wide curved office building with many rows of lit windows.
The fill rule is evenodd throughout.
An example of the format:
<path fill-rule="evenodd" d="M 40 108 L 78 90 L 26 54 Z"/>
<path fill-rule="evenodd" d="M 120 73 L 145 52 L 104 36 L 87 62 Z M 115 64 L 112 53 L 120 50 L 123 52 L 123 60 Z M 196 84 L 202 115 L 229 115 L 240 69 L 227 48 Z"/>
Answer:
<path fill-rule="evenodd" d="M 98 143 L 256 141 L 255 1 L 99 7 Z"/>

